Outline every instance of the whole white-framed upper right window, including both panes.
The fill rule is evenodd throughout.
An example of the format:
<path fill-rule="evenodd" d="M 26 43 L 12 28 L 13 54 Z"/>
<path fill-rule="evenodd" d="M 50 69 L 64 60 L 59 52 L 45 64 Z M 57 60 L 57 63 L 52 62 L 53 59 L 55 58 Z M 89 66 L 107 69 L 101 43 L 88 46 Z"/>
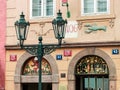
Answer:
<path fill-rule="evenodd" d="M 109 13 L 109 0 L 82 0 L 82 15 Z"/>

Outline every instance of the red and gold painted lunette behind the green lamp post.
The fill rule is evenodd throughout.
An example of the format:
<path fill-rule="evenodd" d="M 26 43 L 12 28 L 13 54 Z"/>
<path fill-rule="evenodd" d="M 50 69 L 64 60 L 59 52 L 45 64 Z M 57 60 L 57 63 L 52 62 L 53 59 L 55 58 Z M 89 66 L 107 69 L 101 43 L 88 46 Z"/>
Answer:
<path fill-rule="evenodd" d="M 34 58 L 31 58 L 24 65 L 23 75 L 38 75 L 38 73 L 39 73 L 38 60 L 34 60 Z M 42 60 L 42 74 L 45 75 L 52 74 L 50 64 L 45 59 Z"/>

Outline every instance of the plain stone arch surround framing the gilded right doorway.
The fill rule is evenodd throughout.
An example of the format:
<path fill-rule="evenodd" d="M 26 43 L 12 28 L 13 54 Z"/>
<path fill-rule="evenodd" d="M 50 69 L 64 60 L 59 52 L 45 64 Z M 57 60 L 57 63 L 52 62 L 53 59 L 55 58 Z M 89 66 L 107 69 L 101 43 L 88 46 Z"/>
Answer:
<path fill-rule="evenodd" d="M 83 51 L 77 53 L 73 59 L 71 60 L 69 67 L 68 67 L 68 90 L 75 90 L 75 65 L 80 60 L 80 58 L 87 56 L 87 55 L 97 55 L 102 57 L 109 68 L 109 90 L 116 90 L 116 68 L 115 65 L 110 58 L 104 51 L 97 49 L 97 48 L 87 48 Z"/>

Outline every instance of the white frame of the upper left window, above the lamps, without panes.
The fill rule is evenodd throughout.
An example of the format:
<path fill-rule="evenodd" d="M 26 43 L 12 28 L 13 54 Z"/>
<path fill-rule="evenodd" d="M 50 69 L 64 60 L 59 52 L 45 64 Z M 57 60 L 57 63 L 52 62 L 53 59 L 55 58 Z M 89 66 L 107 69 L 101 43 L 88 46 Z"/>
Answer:
<path fill-rule="evenodd" d="M 41 5 L 41 16 L 32 16 L 32 0 L 30 0 L 30 19 L 34 19 L 34 18 L 47 18 L 47 17 L 54 17 L 55 15 L 55 11 L 56 11 L 56 0 L 53 0 L 53 15 L 46 15 L 46 11 L 44 11 L 46 9 L 46 0 L 41 0 L 42 1 L 42 5 Z"/>

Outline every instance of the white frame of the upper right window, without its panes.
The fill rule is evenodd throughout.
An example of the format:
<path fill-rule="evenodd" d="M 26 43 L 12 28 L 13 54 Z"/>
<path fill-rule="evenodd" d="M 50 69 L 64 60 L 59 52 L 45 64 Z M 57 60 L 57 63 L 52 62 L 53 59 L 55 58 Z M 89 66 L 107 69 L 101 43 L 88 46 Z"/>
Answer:
<path fill-rule="evenodd" d="M 103 14 L 110 14 L 110 0 L 107 0 L 107 11 L 106 12 L 97 12 L 97 1 L 94 0 L 94 12 L 93 13 L 84 13 L 84 0 L 81 0 L 81 15 L 82 16 L 91 16 L 91 15 L 103 15 Z"/>

